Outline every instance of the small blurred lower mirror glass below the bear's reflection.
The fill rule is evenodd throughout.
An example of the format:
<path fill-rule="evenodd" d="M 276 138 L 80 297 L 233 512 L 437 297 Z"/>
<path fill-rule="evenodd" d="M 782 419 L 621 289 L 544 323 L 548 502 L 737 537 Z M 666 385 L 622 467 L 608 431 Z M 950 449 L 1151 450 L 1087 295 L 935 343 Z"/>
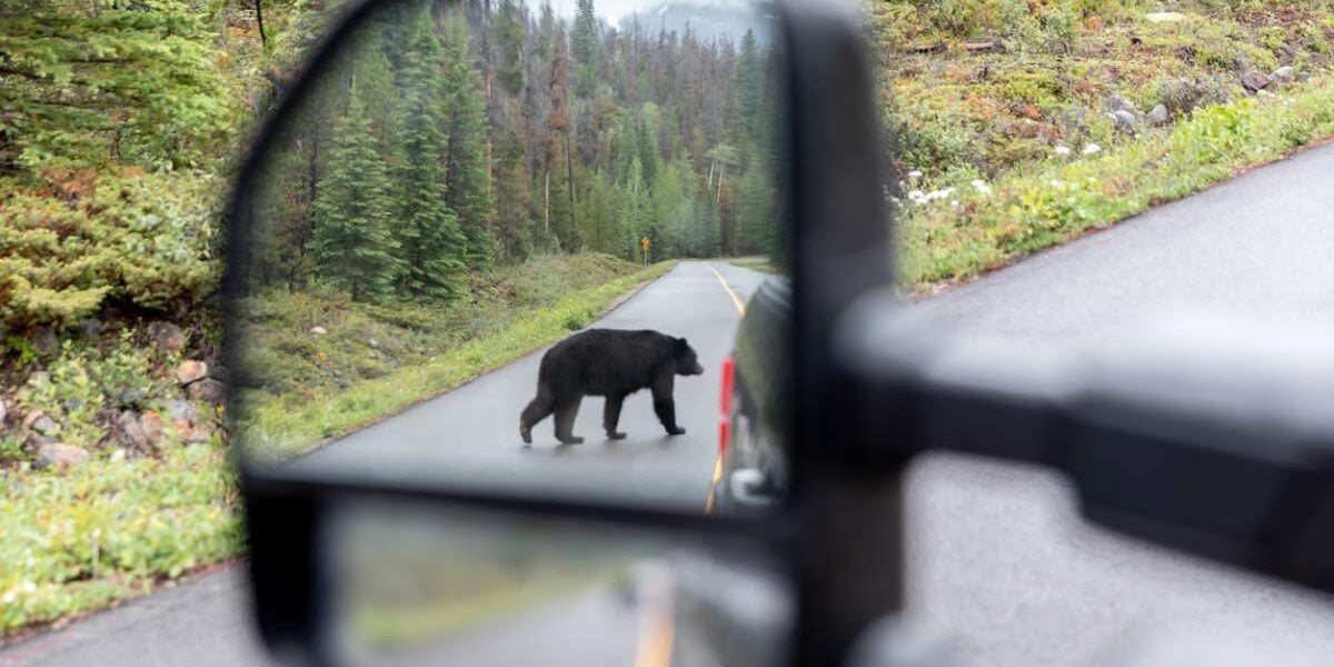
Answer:
<path fill-rule="evenodd" d="M 343 664 L 780 664 L 790 579 L 736 538 L 359 502 L 319 552 Z"/>

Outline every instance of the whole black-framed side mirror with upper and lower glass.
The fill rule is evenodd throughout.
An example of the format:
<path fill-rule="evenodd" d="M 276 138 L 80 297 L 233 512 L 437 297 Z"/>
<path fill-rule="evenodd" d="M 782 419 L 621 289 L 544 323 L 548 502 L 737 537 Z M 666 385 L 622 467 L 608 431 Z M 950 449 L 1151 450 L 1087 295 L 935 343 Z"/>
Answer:
<path fill-rule="evenodd" d="M 684 583 L 702 559 L 742 563 L 774 614 L 747 624 L 754 664 L 784 647 L 828 663 L 892 611 L 896 574 L 802 583 L 879 571 L 898 544 L 896 488 L 822 510 L 883 515 L 862 562 L 792 542 L 818 519 L 791 488 L 847 474 L 822 451 L 823 406 L 782 392 L 762 418 L 810 483 L 759 516 L 704 514 L 746 299 L 790 285 L 766 325 L 780 335 L 751 344 L 820 378 L 824 316 L 888 276 L 868 73 L 855 16 L 826 5 L 356 4 L 260 133 L 228 217 L 228 412 L 268 646 L 434 660 L 508 636 L 464 611 L 503 607 L 520 636 L 536 607 L 602 610 L 627 567 L 670 554 L 674 590 L 696 592 L 648 595 L 668 606 L 644 623 L 736 608 Z M 660 628 L 623 616 L 550 619 L 552 638 L 616 638 L 588 643 L 594 662 L 662 651 Z M 467 655 L 532 658 L 500 644 Z"/>

